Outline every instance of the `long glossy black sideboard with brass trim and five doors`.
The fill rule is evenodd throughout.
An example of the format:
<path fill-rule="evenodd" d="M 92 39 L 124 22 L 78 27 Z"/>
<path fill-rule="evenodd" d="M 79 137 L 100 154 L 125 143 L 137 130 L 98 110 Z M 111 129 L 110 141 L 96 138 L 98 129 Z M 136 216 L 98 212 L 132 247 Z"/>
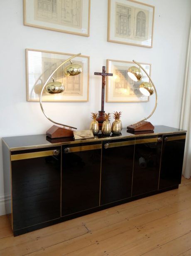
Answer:
<path fill-rule="evenodd" d="M 82 140 L 2 138 L 14 236 L 178 188 L 185 140 L 186 131 L 164 125 Z"/>

